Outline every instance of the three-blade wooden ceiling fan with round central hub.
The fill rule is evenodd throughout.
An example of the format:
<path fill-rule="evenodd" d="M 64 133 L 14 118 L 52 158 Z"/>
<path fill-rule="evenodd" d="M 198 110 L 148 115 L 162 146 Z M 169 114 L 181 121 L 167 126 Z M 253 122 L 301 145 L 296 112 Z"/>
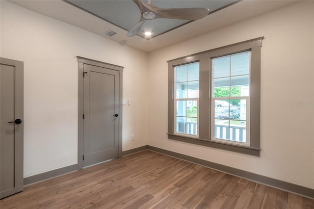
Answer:
<path fill-rule="evenodd" d="M 206 8 L 159 8 L 151 4 L 151 0 L 148 0 L 148 4 L 143 3 L 141 0 L 133 0 L 138 6 L 141 12 L 141 19 L 138 23 L 131 28 L 127 36 L 132 37 L 136 35 L 145 21 L 153 20 L 157 18 L 169 18 L 179 20 L 199 20 L 206 17 L 209 14 L 209 9 Z"/>

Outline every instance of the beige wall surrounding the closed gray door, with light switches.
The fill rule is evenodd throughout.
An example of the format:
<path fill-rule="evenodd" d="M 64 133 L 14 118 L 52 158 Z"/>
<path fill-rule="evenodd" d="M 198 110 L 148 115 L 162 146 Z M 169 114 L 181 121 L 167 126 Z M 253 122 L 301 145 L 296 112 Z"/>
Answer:
<path fill-rule="evenodd" d="M 76 56 L 125 67 L 123 150 L 147 145 L 147 53 L 8 1 L 0 7 L 0 56 L 24 61 L 24 177 L 78 162 Z"/>

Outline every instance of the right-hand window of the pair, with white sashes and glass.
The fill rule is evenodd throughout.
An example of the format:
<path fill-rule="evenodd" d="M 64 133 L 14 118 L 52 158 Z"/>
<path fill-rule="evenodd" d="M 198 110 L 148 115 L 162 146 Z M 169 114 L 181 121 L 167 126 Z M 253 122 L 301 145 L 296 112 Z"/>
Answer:
<path fill-rule="evenodd" d="M 212 59 L 212 140 L 249 146 L 250 52 Z"/>

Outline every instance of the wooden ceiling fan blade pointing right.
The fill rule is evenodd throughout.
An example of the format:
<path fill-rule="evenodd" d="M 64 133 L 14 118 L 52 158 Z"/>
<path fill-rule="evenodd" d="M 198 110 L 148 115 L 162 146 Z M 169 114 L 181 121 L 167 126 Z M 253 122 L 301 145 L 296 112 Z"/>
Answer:
<path fill-rule="evenodd" d="M 179 20 L 199 20 L 209 14 L 206 8 L 172 8 L 160 9 L 154 11 L 161 18 L 179 19 Z"/>

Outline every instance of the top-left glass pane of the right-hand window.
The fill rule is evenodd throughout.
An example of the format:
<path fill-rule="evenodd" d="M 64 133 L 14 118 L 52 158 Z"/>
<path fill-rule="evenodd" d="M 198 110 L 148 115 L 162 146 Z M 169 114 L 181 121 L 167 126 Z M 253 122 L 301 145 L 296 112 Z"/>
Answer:
<path fill-rule="evenodd" d="M 230 56 L 213 59 L 214 78 L 230 76 Z"/>

